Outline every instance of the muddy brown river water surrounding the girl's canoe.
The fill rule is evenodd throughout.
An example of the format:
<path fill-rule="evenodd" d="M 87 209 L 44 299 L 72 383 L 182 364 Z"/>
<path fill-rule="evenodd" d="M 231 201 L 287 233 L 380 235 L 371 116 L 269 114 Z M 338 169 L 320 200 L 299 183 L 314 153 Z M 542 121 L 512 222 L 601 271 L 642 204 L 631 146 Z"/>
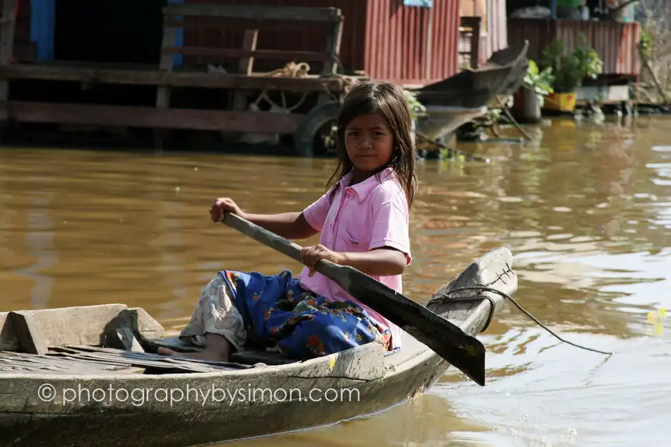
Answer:
<path fill-rule="evenodd" d="M 518 301 L 614 356 L 562 344 L 509 304 L 482 335 L 484 388 L 450 370 L 380 415 L 227 445 L 671 445 L 671 327 L 648 321 L 671 307 L 669 129 L 669 118 L 554 120 L 530 129 L 536 145 L 460 145 L 489 165 L 417 168 L 408 296 L 426 302 L 474 258 L 509 246 Z M 300 210 L 331 169 L 287 157 L 1 149 L 0 311 L 124 302 L 179 330 L 217 270 L 300 268 L 211 223 L 211 201 Z"/>

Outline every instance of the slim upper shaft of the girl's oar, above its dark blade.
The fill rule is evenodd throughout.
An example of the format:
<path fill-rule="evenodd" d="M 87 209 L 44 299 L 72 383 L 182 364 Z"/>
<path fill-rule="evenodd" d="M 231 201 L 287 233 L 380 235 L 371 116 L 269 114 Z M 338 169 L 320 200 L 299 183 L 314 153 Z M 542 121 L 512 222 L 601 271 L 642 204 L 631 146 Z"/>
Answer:
<path fill-rule="evenodd" d="M 266 244 L 272 249 L 280 251 L 280 253 L 289 256 L 295 261 L 301 261 L 302 246 L 299 246 L 298 244 L 295 244 L 295 242 L 291 242 L 278 234 L 270 232 L 263 227 L 259 227 L 259 225 L 249 222 L 249 220 L 244 217 L 225 211 L 222 223 L 243 234 L 247 234 L 247 236 L 256 239 L 256 241 L 261 242 L 261 244 Z M 338 276 L 338 271 L 341 268 L 342 266 L 338 266 L 336 263 L 322 259 L 317 263 L 314 269 L 327 278 L 335 280 L 335 277 Z"/>

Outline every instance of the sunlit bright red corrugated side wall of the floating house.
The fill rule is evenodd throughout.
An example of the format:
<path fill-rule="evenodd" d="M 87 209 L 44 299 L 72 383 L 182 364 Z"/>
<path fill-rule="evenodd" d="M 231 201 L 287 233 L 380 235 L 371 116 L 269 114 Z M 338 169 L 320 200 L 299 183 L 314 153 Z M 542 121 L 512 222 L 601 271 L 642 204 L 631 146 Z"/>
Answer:
<path fill-rule="evenodd" d="M 460 0 L 434 0 L 433 8 L 404 6 L 403 0 L 369 0 L 364 56 L 367 75 L 411 85 L 452 76 L 458 62 L 459 8 Z"/>

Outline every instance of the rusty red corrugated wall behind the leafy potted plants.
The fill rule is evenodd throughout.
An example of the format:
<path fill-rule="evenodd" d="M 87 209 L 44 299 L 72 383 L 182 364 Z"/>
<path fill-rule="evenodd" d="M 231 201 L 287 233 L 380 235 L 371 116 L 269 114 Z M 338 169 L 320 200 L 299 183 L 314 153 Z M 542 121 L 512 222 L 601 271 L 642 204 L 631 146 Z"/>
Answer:
<path fill-rule="evenodd" d="M 538 61 L 545 46 L 554 39 L 562 40 L 566 49 L 573 49 L 578 33 L 588 38 L 603 61 L 607 75 L 638 76 L 641 73 L 638 44 L 639 23 L 593 22 L 585 20 L 510 19 L 509 44 L 529 41 L 529 59 Z"/>

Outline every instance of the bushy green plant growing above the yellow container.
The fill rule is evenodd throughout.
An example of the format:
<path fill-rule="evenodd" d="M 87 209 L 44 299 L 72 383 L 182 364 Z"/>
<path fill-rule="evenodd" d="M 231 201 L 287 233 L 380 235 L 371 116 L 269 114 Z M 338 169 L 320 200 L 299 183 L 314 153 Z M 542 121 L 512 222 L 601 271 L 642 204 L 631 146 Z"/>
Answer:
<path fill-rule="evenodd" d="M 585 78 L 595 79 L 603 72 L 603 61 L 590 47 L 587 37 L 581 32 L 578 44 L 570 53 L 561 40 L 553 40 L 547 45 L 540 59 L 540 66 L 552 68 L 556 92 L 571 92 L 582 85 Z"/>

